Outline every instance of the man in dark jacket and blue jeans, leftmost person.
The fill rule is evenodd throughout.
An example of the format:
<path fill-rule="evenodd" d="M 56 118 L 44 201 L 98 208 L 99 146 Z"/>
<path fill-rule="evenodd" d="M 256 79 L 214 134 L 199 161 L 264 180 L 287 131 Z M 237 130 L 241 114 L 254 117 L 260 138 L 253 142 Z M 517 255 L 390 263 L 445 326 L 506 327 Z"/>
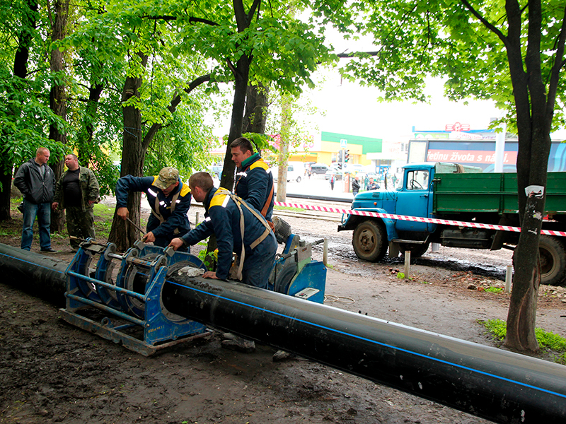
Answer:
<path fill-rule="evenodd" d="M 21 248 L 30 250 L 33 240 L 33 222 L 37 216 L 40 231 L 41 252 L 55 252 L 51 248 L 51 201 L 53 200 L 55 176 L 47 166 L 50 152 L 40 147 L 35 158 L 21 165 L 13 184 L 23 194 L 23 230 Z"/>

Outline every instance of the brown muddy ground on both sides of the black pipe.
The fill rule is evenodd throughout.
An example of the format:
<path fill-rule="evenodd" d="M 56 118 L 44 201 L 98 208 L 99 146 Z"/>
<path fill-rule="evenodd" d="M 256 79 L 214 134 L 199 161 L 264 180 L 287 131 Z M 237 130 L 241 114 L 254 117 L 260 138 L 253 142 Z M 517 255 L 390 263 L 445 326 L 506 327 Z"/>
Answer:
<path fill-rule="evenodd" d="M 21 228 L 15 218 L 8 225 Z M 503 286 L 508 252 L 473 259 L 459 249 L 454 262 L 464 266 L 456 270 L 439 265 L 454 252 L 429 252 L 405 280 L 396 276 L 400 259 L 358 261 L 351 233 L 337 233 L 337 223 L 285 219 L 308 241 L 329 238 L 328 305 L 494 346 L 477 320 L 505 319 L 509 298 L 481 288 Z M 54 256 L 69 261 L 67 240 L 53 240 Z M 18 246 L 19 238 L 0 242 Z M 496 272 L 479 275 L 466 261 Z M 20 285 L 0 284 L 0 423 L 487 423 L 308 360 L 273 363 L 269 346 L 226 351 L 216 334 L 145 358 L 70 326 L 57 305 Z M 543 288 L 538 326 L 566 336 L 565 315 L 564 289 Z"/>

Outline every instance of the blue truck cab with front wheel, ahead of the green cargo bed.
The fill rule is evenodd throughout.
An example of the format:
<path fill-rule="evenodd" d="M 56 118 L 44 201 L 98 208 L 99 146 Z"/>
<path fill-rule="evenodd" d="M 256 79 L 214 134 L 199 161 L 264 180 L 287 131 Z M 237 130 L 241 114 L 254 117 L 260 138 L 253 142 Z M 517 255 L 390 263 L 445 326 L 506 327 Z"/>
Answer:
<path fill-rule="evenodd" d="M 403 166 L 403 177 L 394 189 L 359 193 L 352 203 L 356 211 L 391 213 L 395 215 L 435 218 L 432 213 L 434 175 L 441 172 L 480 172 L 477 167 L 454 163 L 410 163 Z M 354 230 L 352 245 L 357 257 L 366 261 L 383 259 L 411 250 L 417 257 L 427 251 L 430 235 L 437 224 L 415 220 L 395 220 L 360 215 L 348 215 L 338 231 Z"/>

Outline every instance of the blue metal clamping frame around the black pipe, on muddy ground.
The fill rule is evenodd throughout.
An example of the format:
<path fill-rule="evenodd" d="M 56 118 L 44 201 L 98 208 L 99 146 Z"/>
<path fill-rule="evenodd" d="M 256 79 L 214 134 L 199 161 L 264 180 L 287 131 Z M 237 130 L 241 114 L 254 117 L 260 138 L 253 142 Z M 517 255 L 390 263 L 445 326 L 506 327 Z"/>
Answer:
<path fill-rule="evenodd" d="M 100 255 L 94 278 L 89 265 Z M 120 261 L 120 271 L 112 284 L 113 260 Z M 177 343 L 208 336 L 210 331 L 198 322 L 171 314 L 163 308 L 161 290 L 168 269 L 174 264 L 187 264 L 206 269 L 192 254 L 173 252 L 139 242 L 125 255 L 115 254 L 115 245 L 100 245 L 87 240 L 81 245 L 67 274 L 67 305 L 62 317 L 70 324 L 120 343 L 144 356 Z M 139 287 L 139 282 L 143 286 Z M 135 282 L 135 283 L 134 283 Z M 135 287 L 134 287 L 135 286 Z M 95 321 L 86 317 L 86 310 L 103 312 Z M 143 330 L 143 336 L 134 335 Z"/>

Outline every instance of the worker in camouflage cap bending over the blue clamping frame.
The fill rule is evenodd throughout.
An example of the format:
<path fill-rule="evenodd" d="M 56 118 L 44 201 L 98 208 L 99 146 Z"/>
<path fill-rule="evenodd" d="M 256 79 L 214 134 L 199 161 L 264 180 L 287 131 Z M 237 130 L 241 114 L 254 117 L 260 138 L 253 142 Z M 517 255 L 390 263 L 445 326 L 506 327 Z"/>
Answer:
<path fill-rule="evenodd" d="M 147 220 L 147 233 L 144 242 L 167 247 L 174 237 L 190 231 L 187 212 L 190 208 L 189 186 L 179 179 L 179 171 L 174 167 L 164 167 L 154 177 L 134 177 L 126 175 L 116 184 L 117 215 L 126 220 L 128 191 L 144 192 L 151 207 Z M 183 249 L 183 251 L 186 251 Z"/>

